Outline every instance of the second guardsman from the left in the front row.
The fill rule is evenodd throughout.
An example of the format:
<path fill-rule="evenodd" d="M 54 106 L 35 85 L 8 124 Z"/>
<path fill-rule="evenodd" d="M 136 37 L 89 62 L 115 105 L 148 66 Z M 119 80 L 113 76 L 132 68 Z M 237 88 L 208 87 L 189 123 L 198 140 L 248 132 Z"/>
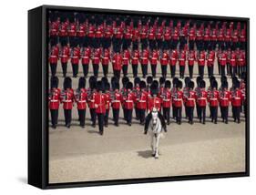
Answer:
<path fill-rule="evenodd" d="M 72 89 L 72 80 L 70 77 L 65 77 L 64 79 L 61 102 L 63 103 L 65 126 L 70 128 L 74 102 L 74 90 Z"/>

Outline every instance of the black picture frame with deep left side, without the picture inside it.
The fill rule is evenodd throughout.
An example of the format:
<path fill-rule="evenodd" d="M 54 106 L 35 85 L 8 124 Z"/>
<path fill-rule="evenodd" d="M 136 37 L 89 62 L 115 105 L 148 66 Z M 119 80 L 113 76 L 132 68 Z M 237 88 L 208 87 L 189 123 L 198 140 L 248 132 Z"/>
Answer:
<path fill-rule="evenodd" d="M 246 159 L 245 171 L 221 174 L 189 175 L 150 179 L 103 180 L 49 184 L 48 182 L 48 66 L 47 65 L 47 10 L 87 11 L 90 13 L 159 15 L 170 17 L 241 21 L 247 24 L 247 89 Z M 28 184 L 40 189 L 103 186 L 172 180 L 206 180 L 217 178 L 244 177 L 250 175 L 250 19 L 217 15 L 184 15 L 158 12 L 128 11 L 115 9 L 83 8 L 72 6 L 42 5 L 28 11 Z"/>

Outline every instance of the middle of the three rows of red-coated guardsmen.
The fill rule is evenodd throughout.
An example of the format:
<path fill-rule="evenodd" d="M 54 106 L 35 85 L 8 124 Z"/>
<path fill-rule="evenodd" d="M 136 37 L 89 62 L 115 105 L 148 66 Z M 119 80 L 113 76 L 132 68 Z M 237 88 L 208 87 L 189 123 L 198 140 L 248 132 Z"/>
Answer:
<path fill-rule="evenodd" d="M 60 59 L 63 76 L 67 76 L 67 63 L 71 62 L 73 77 L 77 77 L 79 64 L 82 65 L 83 74 L 88 75 L 89 65 L 93 67 L 93 75 L 98 77 L 98 69 L 101 64 L 104 77 L 108 77 L 108 66 L 112 64 L 115 77 L 120 77 L 121 71 L 123 76 L 128 76 L 128 67 L 132 67 L 133 77 L 138 77 L 138 65 L 140 64 L 142 76 L 148 76 L 148 64 L 150 64 L 152 76 L 156 77 L 157 67 L 160 64 L 162 77 L 167 77 L 168 67 L 170 76 L 176 76 L 176 65 L 179 65 L 179 77 L 184 78 L 186 67 L 189 68 L 189 77 L 193 77 L 194 65 L 199 68 L 200 77 L 204 77 L 204 68 L 208 68 L 208 77 L 214 73 L 214 62 L 218 60 L 219 74 L 230 77 L 241 76 L 246 71 L 246 52 L 237 48 L 231 50 L 200 51 L 196 50 L 124 50 L 122 52 L 113 52 L 113 50 L 90 47 L 64 46 L 59 49 L 58 46 L 52 46 L 49 53 L 49 64 L 52 76 L 56 76 L 56 67 Z"/>

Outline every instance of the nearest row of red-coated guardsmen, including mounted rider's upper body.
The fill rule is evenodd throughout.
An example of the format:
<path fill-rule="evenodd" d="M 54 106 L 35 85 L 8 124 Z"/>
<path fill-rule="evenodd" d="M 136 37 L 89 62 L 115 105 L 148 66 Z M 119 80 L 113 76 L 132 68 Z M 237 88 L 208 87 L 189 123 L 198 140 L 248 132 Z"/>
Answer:
<path fill-rule="evenodd" d="M 108 127 L 109 110 L 112 108 L 113 120 L 118 126 L 119 110 L 123 108 L 124 119 L 128 126 L 132 125 L 132 113 L 135 109 L 136 118 L 140 124 L 145 124 L 146 113 L 153 108 L 159 110 L 159 115 L 170 123 L 170 108 L 173 111 L 173 118 L 177 124 L 181 124 L 182 107 L 185 107 L 186 118 L 189 124 L 193 124 L 194 108 L 197 108 L 197 115 L 200 123 L 205 124 L 206 107 L 209 105 L 211 122 L 217 123 L 218 108 L 223 122 L 228 123 L 229 107 L 232 106 L 232 117 L 235 122 L 241 122 L 241 109 L 244 107 L 246 114 L 246 92 L 245 77 L 241 81 L 237 77 L 232 78 L 232 87 L 228 89 L 227 77 L 221 77 L 221 86 L 218 89 L 218 82 L 215 77 L 210 77 L 210 87 L 206 89 L 206 83 L 201 77 L 197 77 L 197 87 L 189 77 L 185 78 L 185 87 L 179 78 L 175 77 L 171 82 L 164 77 L 159 81 L 153 77 L 147 77 L 147 83 L 134 78 L 134 84 L 128 77 L 122 78 L 123 87 L 119 87 L 117 77 L 111 78 L 111 84 L 107 77 L 97 80 L 97 77 L 89 78 L 89 87 L 86 88 L 85 77 L 80 77 L 78 87 L 74 91 L 72 80 L 66 77 L 63 89 L 58 88 L 58 78 L 51 77 L 49 89 L 49 109 L 51 113 L 52 127 L 56 128 L 58 109 L 63 104 L 66 127 L 70 128 L 72 119 L 72 108 L 77 103 L 78 120 L 80 126 L 85 128 L 87 106 L 90 111 L 92 126 L 96 127 L 98 120 L 99 133 L 103 134 L 103 128 Z M 183 88 L 182 88 L 183 87 Z"/>

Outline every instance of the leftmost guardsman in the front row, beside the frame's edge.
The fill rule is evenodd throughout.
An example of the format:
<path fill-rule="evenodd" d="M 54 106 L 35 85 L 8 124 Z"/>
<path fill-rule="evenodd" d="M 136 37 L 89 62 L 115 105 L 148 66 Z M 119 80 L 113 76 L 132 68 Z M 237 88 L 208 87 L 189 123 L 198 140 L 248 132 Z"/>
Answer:
<path fill-rule="evenodd" d="M 58 88 L 58 78 L 54 76 L 51 77 L 51 88 L 49 90 L 49 109 L 51 112 L 52 128 L 56 128 L 59 104 L 60 89 Z"/>

